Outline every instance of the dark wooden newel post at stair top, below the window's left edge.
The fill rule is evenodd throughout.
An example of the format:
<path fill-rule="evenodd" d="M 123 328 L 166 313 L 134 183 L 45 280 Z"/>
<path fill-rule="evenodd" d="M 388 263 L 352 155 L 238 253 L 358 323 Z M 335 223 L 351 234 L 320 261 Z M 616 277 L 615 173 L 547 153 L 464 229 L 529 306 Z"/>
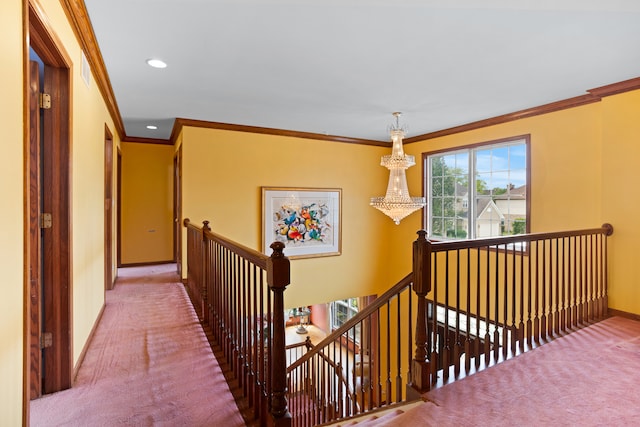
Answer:
<path fill-rule="evenodd" d="M 418 313 L 411 385 L 420 393 L 428 391 L 431 384 L 427 351 L 427 294 L 431 291 L 431 243 L 426 236 L 427 232 L 420 230 L 418 239 L 413 242 L 413 291 L 418 296 Z"/>

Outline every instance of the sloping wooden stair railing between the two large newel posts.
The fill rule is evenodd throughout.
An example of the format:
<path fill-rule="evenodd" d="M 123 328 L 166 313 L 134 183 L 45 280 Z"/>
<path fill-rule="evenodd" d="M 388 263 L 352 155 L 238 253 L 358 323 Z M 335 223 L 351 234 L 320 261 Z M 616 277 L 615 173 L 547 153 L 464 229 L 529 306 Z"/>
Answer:
<path fill-rule="evenodd" d="M 294 426 L 406 399 L 413 348 L 411 279 L 406 276 L 287 368 Z"/>

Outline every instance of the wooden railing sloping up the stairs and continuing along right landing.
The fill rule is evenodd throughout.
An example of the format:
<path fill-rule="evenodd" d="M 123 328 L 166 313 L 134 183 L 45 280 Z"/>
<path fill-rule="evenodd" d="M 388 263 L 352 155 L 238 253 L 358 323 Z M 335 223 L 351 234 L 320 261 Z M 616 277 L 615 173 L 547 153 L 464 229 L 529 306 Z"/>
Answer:
<path fill-rule="evenodd" d="M 413 272 L 287 368 L 293 425 L 415 399 L 606 316 L 612 232 L 435 242 L 419 231 Z"/>

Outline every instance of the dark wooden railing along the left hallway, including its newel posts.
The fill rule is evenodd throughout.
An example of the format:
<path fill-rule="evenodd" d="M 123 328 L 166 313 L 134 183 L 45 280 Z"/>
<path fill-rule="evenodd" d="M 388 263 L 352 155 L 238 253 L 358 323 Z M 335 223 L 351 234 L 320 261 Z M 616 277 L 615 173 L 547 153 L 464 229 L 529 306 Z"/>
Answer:
<path fill-rule="evenodd" d="M 261 426 L 289 427 L 284 290 L 290 282 L 284 244 L 270 257 L 184 220 L 186 288 L 205 330 L 229 365 Z"/>

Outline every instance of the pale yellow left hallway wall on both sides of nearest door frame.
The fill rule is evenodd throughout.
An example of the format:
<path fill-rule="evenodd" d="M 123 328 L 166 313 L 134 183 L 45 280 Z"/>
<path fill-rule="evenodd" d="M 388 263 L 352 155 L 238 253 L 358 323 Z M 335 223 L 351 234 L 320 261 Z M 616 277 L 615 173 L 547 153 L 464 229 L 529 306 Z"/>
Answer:
<path fill-rule="evenodd" d="M 80 77 L 81 50 L 58 0 L 38 0 L 45 21 L 71 62 L 71 265 L 73 363 L 77 363 L 104 304 L 104 137 L 105 124 L 119 142 L 95 81 Z M 21 0 L 0 2 L 0 414 L 2 425 L 22 424 L 23 396 L 23 28 Z"/>

